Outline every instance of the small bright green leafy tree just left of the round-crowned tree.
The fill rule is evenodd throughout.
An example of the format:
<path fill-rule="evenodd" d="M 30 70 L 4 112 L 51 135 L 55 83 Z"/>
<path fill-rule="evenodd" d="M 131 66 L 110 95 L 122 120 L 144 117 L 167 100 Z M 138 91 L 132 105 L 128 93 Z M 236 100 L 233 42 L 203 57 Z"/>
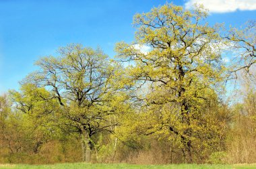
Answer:
<path fill-rule="evenodd" d="M 24 128 L 30 126 L 30 137 L 33 139 L 32 152 L 38 153 L 40 147 L 48 142 L 51 137 L 57 137 L 61 133 L 60 125 L 64 121 L 61 117 L 59 103 L 51 97 L 51 93 L 44 88 L 38 88 L 35 84 L 24 83 L 20 91 L 9 91 L 16 115 L 21 117 L 19 125 Z"/>

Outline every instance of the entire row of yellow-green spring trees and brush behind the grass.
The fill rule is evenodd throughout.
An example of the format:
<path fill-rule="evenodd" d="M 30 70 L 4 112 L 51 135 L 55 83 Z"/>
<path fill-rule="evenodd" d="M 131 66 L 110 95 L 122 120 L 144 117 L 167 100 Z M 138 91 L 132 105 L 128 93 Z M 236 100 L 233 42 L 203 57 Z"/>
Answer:
<path fill-rule="evenodd" d="M 256 162 L 255 22 L 206 17 L 166 4 L 135 15 L 115 59 L 80 44 L 40 58 L 0 97 L 0 163 Z"/>

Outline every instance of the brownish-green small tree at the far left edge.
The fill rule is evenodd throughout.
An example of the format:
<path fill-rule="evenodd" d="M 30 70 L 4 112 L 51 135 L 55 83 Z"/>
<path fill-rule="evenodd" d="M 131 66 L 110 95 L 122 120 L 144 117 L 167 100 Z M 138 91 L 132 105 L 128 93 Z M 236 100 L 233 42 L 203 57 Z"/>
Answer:
<path fill-rule="evenodd" d="M 0 156 L 3 162 L 13 162 L 14 156 L 30 147 L 30 135 L 21 115 L 11 111 L 9 96 L 0 97 Z M 22 158 L 22 157 L 20 157 Z"/>

